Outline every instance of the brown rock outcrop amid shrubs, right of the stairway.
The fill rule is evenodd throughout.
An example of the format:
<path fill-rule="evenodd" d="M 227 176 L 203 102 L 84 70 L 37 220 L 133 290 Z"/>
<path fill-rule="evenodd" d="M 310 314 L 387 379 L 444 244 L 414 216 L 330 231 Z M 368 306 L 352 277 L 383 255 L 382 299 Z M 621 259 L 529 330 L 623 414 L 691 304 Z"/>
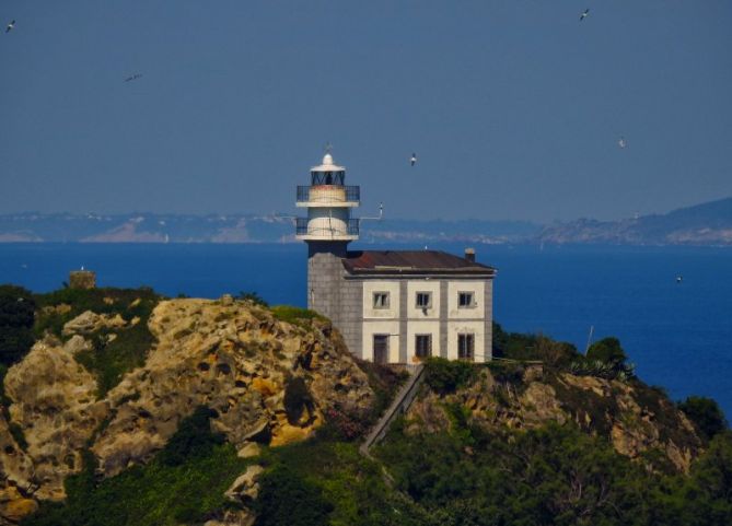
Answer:
<path fill-rule="evenodd" d="M 688 471 L 701 449 L 684 413 L 648 386 L 567 373 L 527 373 L 518 383 L 500 382 L 486 369 L 473 385 L 443 398 L 425 393 L 407 413 L 407 430 L 446 429 L 445 407 L 458 404 L 470 411 L 474 423 L 497 432 L 574 421 L 606 436 L 621 455 L 642 459 L 646 452 L 661 452 L 681 471 Z"/>

